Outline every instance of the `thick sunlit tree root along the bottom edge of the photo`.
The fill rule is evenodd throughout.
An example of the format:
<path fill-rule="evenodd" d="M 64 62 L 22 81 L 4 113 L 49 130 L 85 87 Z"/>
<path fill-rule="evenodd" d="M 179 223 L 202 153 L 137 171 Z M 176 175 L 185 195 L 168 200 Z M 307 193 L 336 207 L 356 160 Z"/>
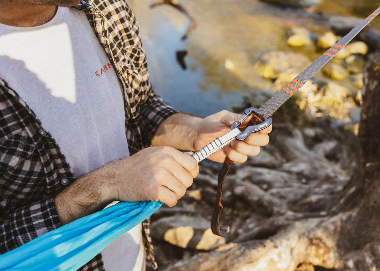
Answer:
<path fill-rule="evenodd" d="M 342 217 L 340 214 L 293 222 L 268 240 L 228 243 L 159 270 L 293 271 L 300 263 L 339 268 L 343 264 L 336 247 L 336 230 Z"/>

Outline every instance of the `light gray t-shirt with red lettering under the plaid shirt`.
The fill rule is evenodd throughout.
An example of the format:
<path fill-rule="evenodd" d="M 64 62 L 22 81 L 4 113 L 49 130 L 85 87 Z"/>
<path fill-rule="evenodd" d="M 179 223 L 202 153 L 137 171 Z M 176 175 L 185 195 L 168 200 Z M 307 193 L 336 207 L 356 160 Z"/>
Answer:
<path fill-rule="evenodd" d="M 77 178 L 129 156 L 119 81 L 84 12 L 60 7 L 37 27 L 0 24 L 0 76 L 40 118 Z M 106 271 L 141 270 L 141 225 L 120 238 L 102 251 Z"/>

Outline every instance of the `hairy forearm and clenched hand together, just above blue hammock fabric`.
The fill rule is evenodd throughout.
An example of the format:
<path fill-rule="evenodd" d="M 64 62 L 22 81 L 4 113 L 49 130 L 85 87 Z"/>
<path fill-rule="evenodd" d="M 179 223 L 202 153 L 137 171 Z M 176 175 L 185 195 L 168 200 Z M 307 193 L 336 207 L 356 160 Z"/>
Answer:
<path fill-rule="evenodd" d="M 198 175 L 192 153 L 150 147 L 76 180 L 55 197 L 61 224 L 101 210 L 114 200 L 160 200 L 174 206 Z"/>

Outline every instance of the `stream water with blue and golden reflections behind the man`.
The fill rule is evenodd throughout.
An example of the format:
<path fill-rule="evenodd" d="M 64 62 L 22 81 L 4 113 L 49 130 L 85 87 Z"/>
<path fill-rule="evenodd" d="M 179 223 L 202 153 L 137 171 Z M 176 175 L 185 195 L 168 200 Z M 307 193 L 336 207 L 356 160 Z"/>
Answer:
<path fill-rule="evenodd" d="M 190 26 L 190 19 L 184 13 L 171 5 L 150 8 L 157 3 L 155 0 L 128 2 L 138 19 L 155 91 L 176 109 L 201 117 L 240 107 L 244 97 L 256 99 L 260 104 L 273 95 L 276 78 L 262 77 L 260 69 L 255 67 L 263 54 L 291 51 L 314 61 L 325 51 L 315 45 L 315 39 L 331 29 L 330 17 L 364 18 L 378 7 L 373 0 L 321 0 L 306 9 L 258 0 L 182 0 L 179 3 L 197 24 L 182 41 Z M 371 22 L 371 26 L 380 30 L 378 20 Z M 292 28 L 308 30 L 312 43 L 288 45 Z M 178 51 L 185 69 L 177 61 Z M 301 65 L 297 71 L 304 68 Z M 347 76 L 336 81 L 349 88 L 349 94 L 354 97 L 360 88 L 355 87 L 353 80 L 353 76 Z M 325 84 L 325 81 L 318 79 L 318 83 Z"/>

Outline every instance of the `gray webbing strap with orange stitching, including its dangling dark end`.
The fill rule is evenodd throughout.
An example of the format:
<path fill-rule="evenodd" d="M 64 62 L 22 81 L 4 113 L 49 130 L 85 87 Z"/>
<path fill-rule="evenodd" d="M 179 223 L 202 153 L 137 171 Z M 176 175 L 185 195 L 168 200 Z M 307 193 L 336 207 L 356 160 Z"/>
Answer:
<path fill-rule="evenodd" d="M 371 20 L 373 20 L 380 13 L 378 7 L 374 13 L 364 19 L 360 24 L 353 28 L 347 35 L 345 35 L 334 46 L 328 49 L 323 55 L 317 58 L 309 67 L 304 69 L 296 78 L 291 80 L 282 90 L 277 92 L 270 98 L 263 106 L 261 106 L 252 116 L 247 126 L 262 123 L 270 117 L 282 104 L 287 101 L 299 88 L 301 88 L 308 80 L 311 79 L 323 66 L 328 63 L 344 46 L 346 46 L 351 39 L 353 39 Z M 233 161 L 226 156 L 223 162 L 222 169 L 218 174 L 218 190 L 216 194 L 216 204 L 212 212 L 211 230 L 215 235 L 226 236 L 229 232 L 229 227 L 219 225 L 220 213 L 223 209 L 221 202 L 223 192 L 223 181 L 230 170 Z"/>

